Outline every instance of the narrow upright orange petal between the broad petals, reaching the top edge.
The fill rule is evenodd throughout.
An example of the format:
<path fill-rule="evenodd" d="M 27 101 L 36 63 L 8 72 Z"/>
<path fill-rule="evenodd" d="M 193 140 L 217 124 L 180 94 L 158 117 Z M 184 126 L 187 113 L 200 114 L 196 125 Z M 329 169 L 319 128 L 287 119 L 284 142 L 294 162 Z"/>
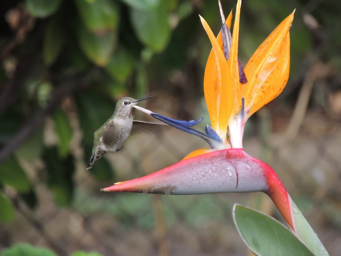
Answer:
<path fill-rule="evenodd" d="M 239 38 L 239 18 L 240 18 L 240 5 L 241 0 L 237 2 L 236 17 L 233 26 L 232 44 L 230 54 L 228 56 L 228 66 L 231 72 L 231 81 L 234 98 L 233 98 L 233 113 L 239 113 L 241 110 L 241 97 L 240 97 L 240 85 L 239 85 L 239 67 L 238 67 L 238 38 Z"/>

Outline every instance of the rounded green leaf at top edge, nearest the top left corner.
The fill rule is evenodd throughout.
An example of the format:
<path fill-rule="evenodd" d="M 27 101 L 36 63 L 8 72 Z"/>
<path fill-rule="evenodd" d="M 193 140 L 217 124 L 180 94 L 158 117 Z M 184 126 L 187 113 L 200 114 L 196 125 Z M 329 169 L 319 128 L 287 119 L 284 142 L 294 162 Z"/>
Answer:
<path fill-rule="evenodd" d="M 59 8 L 62 0 L 26 0 L 26 10 L 33 17 L 45 18 Z"/>

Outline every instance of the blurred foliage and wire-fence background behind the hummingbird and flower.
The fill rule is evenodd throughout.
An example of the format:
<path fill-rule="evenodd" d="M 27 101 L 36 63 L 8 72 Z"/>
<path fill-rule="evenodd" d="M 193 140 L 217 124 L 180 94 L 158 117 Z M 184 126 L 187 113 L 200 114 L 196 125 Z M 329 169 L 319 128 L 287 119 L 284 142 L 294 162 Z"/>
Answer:
<path fill-rule="evenodd" d="M 222 0 L 225 16 L 236 1 Z M 269 163 L 330 255 L 341 252 L 341 5 L 243 0 L 239 59 L 293 10 L 290 79 L 248 121 L 244 150 Z M 209 123 L 203 77 L 217 0 L 0 3 L 0 251 L 17 242 L 102 255 L 251 255 L 232 219 L 241 203 L 279 220 L 267 196 L 164 196 L 99 189 L 165 168 L 204 141 L 173 128 L 132 134 L 92 169 L 93 132 L 122 96 Z M 233 13 L 234 14 L 234 13 Z M 135 119 L 148 120 L 143 113 Z"/>

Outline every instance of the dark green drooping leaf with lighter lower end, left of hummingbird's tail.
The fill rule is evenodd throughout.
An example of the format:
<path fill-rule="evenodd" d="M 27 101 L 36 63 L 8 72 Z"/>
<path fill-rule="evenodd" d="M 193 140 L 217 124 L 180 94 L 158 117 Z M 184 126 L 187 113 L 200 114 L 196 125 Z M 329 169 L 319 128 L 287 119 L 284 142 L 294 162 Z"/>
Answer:
<path fill-rule="evenodd" d="M 48 184 L 55 202 L 59 206 L 68 206 L 73 196 L 73 158 L 69 155 L 66 159 L 58 158 L 55 147 L 46 148 L 43 156 L 48 172 Z"/>

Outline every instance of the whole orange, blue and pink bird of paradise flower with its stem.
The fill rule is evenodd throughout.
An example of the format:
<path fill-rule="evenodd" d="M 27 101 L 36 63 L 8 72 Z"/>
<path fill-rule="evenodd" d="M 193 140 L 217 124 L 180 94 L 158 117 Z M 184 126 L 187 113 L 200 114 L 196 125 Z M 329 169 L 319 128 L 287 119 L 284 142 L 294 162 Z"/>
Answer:
<path fill-rule="evenodd" d="M 273 30 L 243 69 L 238 60 L 240 6 L 241 0 L 238 0 L 232 35 L 229 31 L 232 12 L 225 21 L 221 9 L 223 25 L 217 38 L 200 17 L 212 44 L 204 76 L 204 93 L 212 125 L 206 127 L 206 133 L 191 128 L 202 119 L 178 121 L 135 106 L 164 123 L 201 137 L 210 148 L 193 151 L 180 162 L 153 174 L 118 182 L 102 190 L 165 195 L 262 191 L 272 199 L 292 231 L 314 255 L 328 255 L 275 171 L 242 149 L 246 121 L 276 98 L 288 80 L 289 30 L 294 12 Z"/>

